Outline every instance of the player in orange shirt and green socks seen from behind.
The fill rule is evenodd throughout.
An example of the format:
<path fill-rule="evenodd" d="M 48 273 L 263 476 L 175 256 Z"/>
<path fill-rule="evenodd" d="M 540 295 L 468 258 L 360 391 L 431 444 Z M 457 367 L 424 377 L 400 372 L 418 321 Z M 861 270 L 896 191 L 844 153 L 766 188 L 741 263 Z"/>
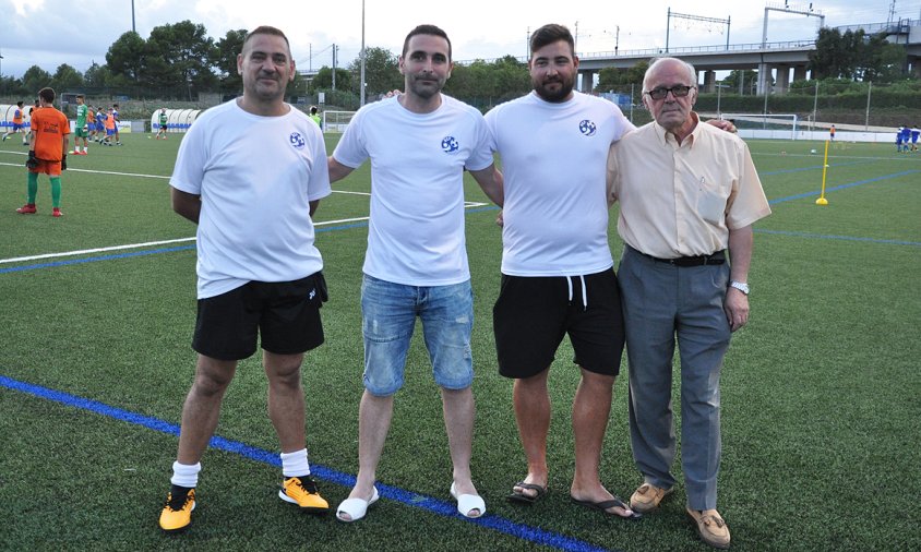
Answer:
<path fill-rule="evenodd" d="M 34 215 L 35 196 L 38 194 L 38 173 L 51 177 L 51 216 L 61 216 L 61 171 L 68 168 L 68 134 L 70 121 L 55 109 L 55 91 L 38 91 L 39 107 L 32 113 L 32 139 L 28 144 L 28 200 L 16 209 L 22 215 Z"/>

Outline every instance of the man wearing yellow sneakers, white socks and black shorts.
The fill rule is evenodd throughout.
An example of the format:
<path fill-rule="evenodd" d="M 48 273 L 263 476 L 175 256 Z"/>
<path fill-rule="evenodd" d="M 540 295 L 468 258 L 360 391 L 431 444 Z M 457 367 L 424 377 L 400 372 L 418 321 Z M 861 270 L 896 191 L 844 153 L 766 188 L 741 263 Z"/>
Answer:
<path fill-rule="evenodd" d="M 258 336 L 282 445 L 278 496 L 308 513 L 328 509 L 310 476 L 300 373 L 303 353 L 323 343 L 326 288 L 311 217 L 331 193 L 326 146 L 313 121 L 284 101 L 295 75 L 287 37 L 261 26 L 242 50 L 243 96 L 198 118 L 170 179 L 174 209 L 199 225 L 199 355 L 159 518 L 165 531 L 191 524 L 199 460 L 237 363 L 255 352 Z"/>

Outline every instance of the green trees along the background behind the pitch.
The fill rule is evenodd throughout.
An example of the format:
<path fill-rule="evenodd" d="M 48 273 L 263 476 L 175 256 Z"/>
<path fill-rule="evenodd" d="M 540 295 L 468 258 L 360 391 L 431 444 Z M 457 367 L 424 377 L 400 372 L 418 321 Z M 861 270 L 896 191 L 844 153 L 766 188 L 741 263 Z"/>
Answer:
<path fill-rule="evenodd" d="M 33 65 L 22 79 L 0 80 L 0 94 L 32 96 L 43 86 L 52 86 L 60 92 L 190 101 L 200 93 L 235 96 L 242 91 L 237 53 L 246 36 L 247 29 L 234 29 L 215 40 L 207 36 L 204 25 L 188 20 L 157 26 L 146 39 L 128 32 L 109 47 L 104 65 L 94 62 L 81 73 L 64 63 L 53 74 Z M 639 85 L 647 67 L 647 62 L 639 62 L 630 69 L 602 69 L 596 91 Z M 810 53 L 809 69 L 814 80 L 893 83 L 907 80 L 907 56 L 902 45 L 887 43 L 883 34 L 822 28 L 816 49 Z M 360 58 L 356 57 L 335 69 L 335 84 L 334 70 L 323 67 L 313 79 L 297 74 L 288 92 L 308 98 L 324 92 L 327 104 L 357 109 Z M 366 49 L 364 76 L 369 99 L 403 87 L 398 56 L 385 48 Z M 753 95 L 756 82 L 756 71 L 732 71 L 721 84 L 731 92 Z M 530 88 L 527 64 L 513 56 L 457 64 L 445 85 L 447 94 L 482 109 L 527 94 Z"/>

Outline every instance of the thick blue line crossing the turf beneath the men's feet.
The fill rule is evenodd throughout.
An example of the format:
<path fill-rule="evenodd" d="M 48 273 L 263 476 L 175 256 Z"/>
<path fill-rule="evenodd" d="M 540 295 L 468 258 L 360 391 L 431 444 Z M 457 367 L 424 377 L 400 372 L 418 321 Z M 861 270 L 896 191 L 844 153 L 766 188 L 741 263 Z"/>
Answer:
<path fill-rule="evenodd" d="M 3 375 L 0 375 L 0 386 L 27 395 L 44 398 L 47 400 L 53 400 L 55 403 L 59 403 L 64 406 L 79 408 L 82 410 L 88 410 L 97 415 L 106 416 L 108 418 L 124 421 L 128 423 L 133 423 L 135 425 L 141 425 L 149 430 L 159 431 L 169 435 L 179 435 L 179 425 L 175 423 L 169 423 L 157 418 L 139 415 L 135 412 L 123 410 L 121 408 L 116 408 L 113 406 L 109 406 L 97 400 L 77 397 L 69 393 L 50 389 L 40 385 L 21 382 L 19 380 L 13 380 Z M 261 461 L 263 464 L 268 464 L 276 467 L 282 467 L 282 459 L 278 457 L 277 454 L 272 453 L 270 451 L 265 451 L 263 448 L 250 446 L 239 441 L 231 441 L 229 439 L 214 436 L 212 437 L 211 442 L 208 442 L 208 446 L 217 451 L 237 454 L 239 456 L 242 456 L 243 458 L 249 458 L 251 460 Z M 325 481 L 330 481 L 335 484 L 339 484 L 346 488 L 350 488 L 355 484 L 355 476 L 335 469 L 314 464 L 311 466 L 311 471 L 318 478 L 323 479 Z M 378 488 L 378 492 L 384 499 L 394 502 L 399 502 L 406 506 L 424 509 L 430 513 L 438 514 L 440 516 L 456 518 L 462 521 L 479 525 L 481 527 L 503 532 L 505 535 L 522 540 L 542 544 L 545 547 L 552 547 L 558 550 L 566 550 L 573 552 L 600 552 L 605 550 L 610 550 L 599 548 L 595 544 L 581 541 L 578 539 L 573 539 L 563 535 L 547 531 L 538 527 L 518 524 L 493 514 L 487 514 L 479 518 L 468 519 L 457 513 L 457 508 L 453 502 L 441 501 L 431 496 L 417 494 L 410 491 L 406 491 L 404 489 L 399 489 L 397 487 L 391 487 L 383 483 L 376 483 L 375 487 Z M 445 492 L 447 492 L 447 490 L 445 490 Z"/>

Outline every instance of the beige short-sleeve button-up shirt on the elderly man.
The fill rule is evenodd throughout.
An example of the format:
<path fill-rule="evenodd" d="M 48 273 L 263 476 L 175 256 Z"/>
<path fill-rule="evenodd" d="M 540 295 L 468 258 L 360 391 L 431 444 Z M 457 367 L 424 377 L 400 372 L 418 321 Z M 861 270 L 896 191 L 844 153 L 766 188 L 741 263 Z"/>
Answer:
<path fill-rule="evenodd" d="M 660 259 L 723 250 L 730 229 L 770 214 L 749 146 L 710 124 L 681 144 L 655 121 L 631 132 L 611 146 L 608 178 L 618 233 Z"/>

